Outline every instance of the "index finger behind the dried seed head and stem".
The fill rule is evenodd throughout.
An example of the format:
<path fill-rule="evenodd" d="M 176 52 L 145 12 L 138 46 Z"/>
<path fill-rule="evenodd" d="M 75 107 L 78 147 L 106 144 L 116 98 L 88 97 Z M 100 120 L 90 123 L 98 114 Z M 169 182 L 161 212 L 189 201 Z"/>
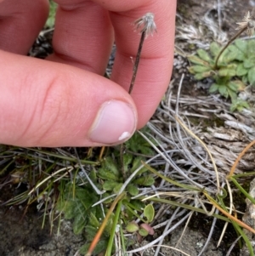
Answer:
<path fill-rule="evenodd" d="M 155 15 L 157 32 L 144 41 L 132 97 L 139 113 L 139 127 L 150 119 L 170 81 L 173 67 L 176 1 L 104 1 L 115 30 L 116 60 L 111 79 L 128 90 L 133 60 L 139 46 L 139 31 L 133 22 L 146 13 Z M 125 2 L 125 3 L 123 3 Z M 133 58 L 133 60 L 131 60 Z"/>

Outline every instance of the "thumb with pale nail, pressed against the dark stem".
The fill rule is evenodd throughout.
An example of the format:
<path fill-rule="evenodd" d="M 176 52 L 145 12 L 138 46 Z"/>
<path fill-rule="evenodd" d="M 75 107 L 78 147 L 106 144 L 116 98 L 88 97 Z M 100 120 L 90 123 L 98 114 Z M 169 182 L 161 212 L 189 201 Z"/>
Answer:
<path fill-rule="evenodd" d="M 4 51 L 0 70 L 0 143 L 113 145 L 136 129 L 133 100 L 105 77 Z"/>

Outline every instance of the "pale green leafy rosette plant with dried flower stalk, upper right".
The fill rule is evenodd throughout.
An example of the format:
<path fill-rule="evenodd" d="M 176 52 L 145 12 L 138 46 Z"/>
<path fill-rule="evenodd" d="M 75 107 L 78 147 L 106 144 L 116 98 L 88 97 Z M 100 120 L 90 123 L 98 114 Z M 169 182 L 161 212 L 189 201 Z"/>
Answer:
<path fill-rule="evenodd" d="M 212 42 L 209 51 L 198 49 L 195 55 L 188 59 L 193 64 L 189 71 L 196 80 L 212 78 L 210 93 L 219 93 L 232 102 L 231 111 L 241 111 L 248 108 L 246 101 L 238 98 L 238 94 L 246 85 L 255 85 L 255 51 L 254 40 L 244 41 L 237 39 L 246 31 L 251 37 L 255 29 L 255 20 L 247 12 L 241 22 L 237 22 L 237 33 L 222 48 Z"/>

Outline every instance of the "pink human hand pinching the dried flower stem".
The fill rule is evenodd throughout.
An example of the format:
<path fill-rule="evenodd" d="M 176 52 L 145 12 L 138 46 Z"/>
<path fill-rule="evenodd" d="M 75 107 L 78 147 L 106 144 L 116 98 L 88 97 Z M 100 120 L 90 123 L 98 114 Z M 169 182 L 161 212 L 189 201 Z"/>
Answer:
<path fill-rule="evenodd" d="M 114 145 L 148 122 L 171 76 L 175 0 L 56 0 L 48 60 L 25 56 L 47 19 L 48 0 L 0 2 L 0 143 Z M 140 38 L 133 21 L 148 12 L 157 33 L 144 42 L 129 95 Z M 102 75 L 114 40 L 108 80 Z"/>

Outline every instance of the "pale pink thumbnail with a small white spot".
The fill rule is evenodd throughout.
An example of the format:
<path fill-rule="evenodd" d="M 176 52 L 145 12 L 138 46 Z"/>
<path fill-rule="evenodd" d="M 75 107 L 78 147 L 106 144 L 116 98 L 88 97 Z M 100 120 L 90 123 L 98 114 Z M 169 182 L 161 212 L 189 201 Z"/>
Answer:
<path fill-rule="evenodd" d="M 133 107 L 120 100 L 111 100 L 101 106 L 89 137 L 102 144 L 119 144 L 129 139 L 135 128 Z"/>

